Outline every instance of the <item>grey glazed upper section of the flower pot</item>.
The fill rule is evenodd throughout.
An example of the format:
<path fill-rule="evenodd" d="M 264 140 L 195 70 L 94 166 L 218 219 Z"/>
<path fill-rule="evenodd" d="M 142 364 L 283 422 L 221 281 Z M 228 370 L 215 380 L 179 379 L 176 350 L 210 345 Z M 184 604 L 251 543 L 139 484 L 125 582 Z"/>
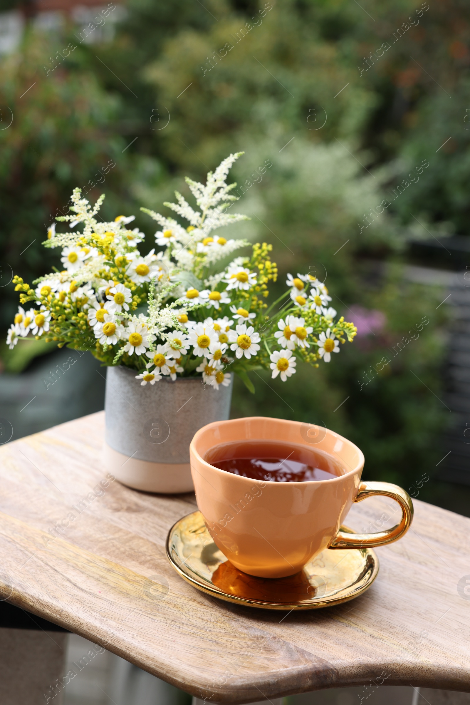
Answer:
<path fill-rule="evenodd" d="M 218 390 L 202 378 L 163 377 L 141 386 L 136 372 L 108 367 L 106 443 L 119 453 L 152 462 L 190 462 L 192 436 L 230 415 L 230 386 Z"/>

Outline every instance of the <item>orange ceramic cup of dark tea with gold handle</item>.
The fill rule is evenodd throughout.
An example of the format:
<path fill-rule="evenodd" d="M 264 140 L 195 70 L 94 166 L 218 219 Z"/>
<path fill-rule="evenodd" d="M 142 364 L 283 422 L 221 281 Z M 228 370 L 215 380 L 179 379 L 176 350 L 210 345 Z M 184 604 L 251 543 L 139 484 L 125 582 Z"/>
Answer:
<path fill-rule="evenodd" d="M 369 548 L 403 536 L 412 500 L 388 482 L 362 482 L 364 455 L 314 424 L 247 417 L 208 424 L 190 446 L 197 505 L 212 539 L 249 575 L 294 575 L 325 548 Z M 340 530 L 353 502 L 385 495 L 399 503 L 395 527 Z"/>

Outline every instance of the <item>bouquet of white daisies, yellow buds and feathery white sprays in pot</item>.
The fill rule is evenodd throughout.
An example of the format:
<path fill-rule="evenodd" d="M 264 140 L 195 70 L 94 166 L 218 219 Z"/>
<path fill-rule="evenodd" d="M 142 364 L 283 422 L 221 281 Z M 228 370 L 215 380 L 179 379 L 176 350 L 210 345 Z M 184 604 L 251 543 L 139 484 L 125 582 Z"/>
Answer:
<path fill-rule="evenodd" d="M 68 232 L 57 233 L 54 223 L 44 242 L 61 247 L 63 270 L 39 278 L 35 288 L 13 279 L 21 305 L 10 348 L 19 338 L 44 336 L 59 348 L 90 350 L 105 365 L 129 367 L 142 385 L 199 375 L 214 390 L 230 384 L 231 372 L 254 391 L 250 370 L 271 369 L 286 381 L 298 361 L 330 362 L 356 329 L 343 317 L 335 321 L 325 284 L 288 274 L 287 290 L 268 307 L 268 282 L 277 276 L 272 246 L 220 234 L 247 220 L 227 212 L 237 197 L 226 178 L 240 154 L 209 172 L 206 185 L 186 179 L 197 209 L 178 192 L 177 203 L 164 204 L 189 226 L 142 209 L 159 225 L 159 250 L 145 256 L 138 249 L 144 235 L 129 227 L 134 216 L 105 223 L 97 219 L 104 195 L 92 207 L 75 189 L 73 215 L 56 219 Z M 233 258 L 248 247 L 251 255 Z"/>

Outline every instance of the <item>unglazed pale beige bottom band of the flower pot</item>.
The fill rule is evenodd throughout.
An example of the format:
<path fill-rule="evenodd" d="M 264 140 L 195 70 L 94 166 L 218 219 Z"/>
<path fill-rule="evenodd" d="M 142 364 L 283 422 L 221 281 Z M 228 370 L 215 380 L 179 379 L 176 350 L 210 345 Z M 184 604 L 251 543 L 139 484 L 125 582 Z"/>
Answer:
<path fill-rule="evenodd" d="M 130 458 L 113 450 L 104 443 L 103 462 L 106 470 L 111 472 L 119 482 L 134 489 L 162 494 L 192 492 L 189 462 L 151 462 Z"/>

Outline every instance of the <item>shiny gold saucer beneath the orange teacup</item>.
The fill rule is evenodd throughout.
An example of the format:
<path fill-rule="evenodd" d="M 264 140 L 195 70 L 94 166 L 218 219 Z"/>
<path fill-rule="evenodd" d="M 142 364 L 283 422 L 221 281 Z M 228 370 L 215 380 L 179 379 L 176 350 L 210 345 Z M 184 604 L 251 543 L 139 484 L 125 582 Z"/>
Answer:
<path fill-rule="evenodd" d="M 214 544 L 200 512 L 188 514 L 170 529 L 166 555 L 176 572 L 198 590 L 266 610 L 338 605 L 361 595 L 378 573 L 378 558 L 371 548 L 335 548 L 319 553 L 296 575 L 277 579 L 247 575 Z"/>

